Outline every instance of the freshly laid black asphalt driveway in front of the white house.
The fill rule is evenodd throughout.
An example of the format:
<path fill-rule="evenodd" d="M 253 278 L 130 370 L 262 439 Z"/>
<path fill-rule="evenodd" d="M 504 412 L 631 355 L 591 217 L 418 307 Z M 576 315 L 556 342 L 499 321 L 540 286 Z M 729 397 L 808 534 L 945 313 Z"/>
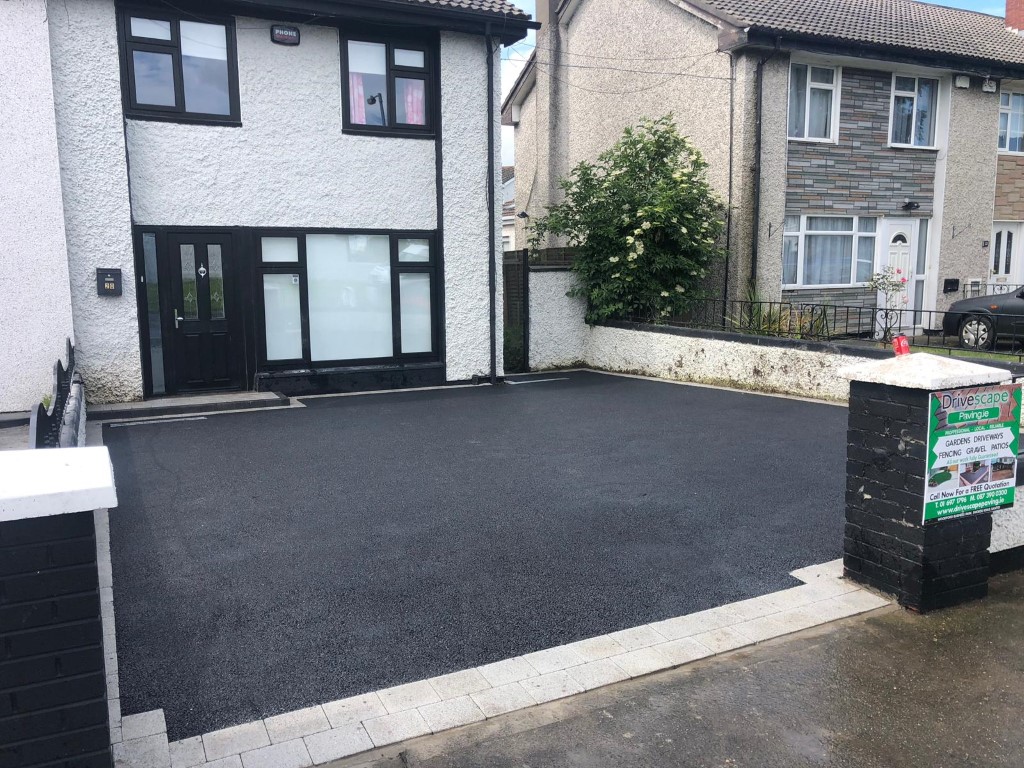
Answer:
<path fill-rule="evenodd" d="M 841 555 L 845 409 L 561 377 L 108 425 L 123 713 L 183 738 Z"/>

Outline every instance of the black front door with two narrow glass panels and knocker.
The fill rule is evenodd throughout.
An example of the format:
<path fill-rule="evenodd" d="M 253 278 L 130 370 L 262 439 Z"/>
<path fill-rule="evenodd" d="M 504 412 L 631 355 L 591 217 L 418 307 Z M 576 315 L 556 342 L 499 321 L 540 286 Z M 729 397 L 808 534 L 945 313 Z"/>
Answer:
<path fill-rule="evenodd" d="M 244 347 L 230 236 L 175 232 L 167 246 L 169 390 L 241 387 Z"/>

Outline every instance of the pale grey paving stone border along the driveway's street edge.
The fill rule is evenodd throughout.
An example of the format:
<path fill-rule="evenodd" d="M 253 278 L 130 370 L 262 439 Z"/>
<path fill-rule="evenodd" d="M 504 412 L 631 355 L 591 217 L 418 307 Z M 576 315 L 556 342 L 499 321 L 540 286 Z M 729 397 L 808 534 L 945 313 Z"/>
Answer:
<path fill-rule="evenodd" d="M 170 743 L 163 711 L 128 716 L 121 720 L 123 740 L 115 748 L 115 765 L 321 765 L 890 604 L 842 574 L 842 560 L 800 568 L 792 573 L 804 582 L 800 587 Z"/>

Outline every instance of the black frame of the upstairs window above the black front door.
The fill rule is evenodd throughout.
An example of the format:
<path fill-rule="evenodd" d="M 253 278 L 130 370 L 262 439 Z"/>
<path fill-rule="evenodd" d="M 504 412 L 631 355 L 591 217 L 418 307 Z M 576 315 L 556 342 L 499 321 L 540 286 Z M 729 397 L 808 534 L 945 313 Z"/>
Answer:
<path fill-rule="evenodd" d="M 171 39 L 154 40 L 132 36 L 132 16 L 169 22 Z M 204 125 L 242 125 L 242 108 L 239 99 L 239 56 L 233 16 L 207 15 L 205 13 L 200 16 L 186 12 L 168 12 L 167 8 L 145 5 L 118 5 L 117 19 L 118 48 L 121 56 L 121 100 L 126 118 Z M 223 25 L 227 42 L 227 96 L 230 109 L 228 115 L 211 115 L 186 110 L 184 79 L 181 69 L 181 22 Z M 135 101 L 135 70 L 132 53 L 136 50 L 171 55 L 174 68 L 174 106 L 139 104 Z"/>

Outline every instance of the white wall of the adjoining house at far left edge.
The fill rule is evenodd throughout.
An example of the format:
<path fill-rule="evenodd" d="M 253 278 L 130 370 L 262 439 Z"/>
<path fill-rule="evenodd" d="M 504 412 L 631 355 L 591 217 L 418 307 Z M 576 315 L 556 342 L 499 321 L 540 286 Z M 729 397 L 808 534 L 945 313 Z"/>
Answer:
<path fill-rule="evenodd" d="M 8 0 L 0 25 L 0 413 L 50 392 L 73 337 L 44 0 Z"/>

